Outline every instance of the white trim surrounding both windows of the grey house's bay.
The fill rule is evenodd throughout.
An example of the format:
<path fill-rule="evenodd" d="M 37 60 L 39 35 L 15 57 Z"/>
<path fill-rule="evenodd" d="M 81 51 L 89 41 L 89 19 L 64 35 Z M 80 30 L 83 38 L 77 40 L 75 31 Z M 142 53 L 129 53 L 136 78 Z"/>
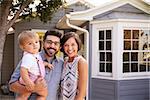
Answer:
<path fill-rule="evenodd" d="M 140 79 L 150 77 L 150 72 L 123 73 L 123 30 L 124 29 L 150 29 L 150 20 L 114 19 L 105 21 L 92 21 L 92 78 L 102 79 Z M 112 28 L 112 74 L 99 72 L 98 31 Z M 115 33 L 115 34 L 114 34 Z M 120 34 L 122 33 L 122 34 Z M 119 35 L 120 34 L 120 35 Z M 117 47 L 117 48 L 116 48 Z M 115 56 L 114 56 L 115 55 Z"/>

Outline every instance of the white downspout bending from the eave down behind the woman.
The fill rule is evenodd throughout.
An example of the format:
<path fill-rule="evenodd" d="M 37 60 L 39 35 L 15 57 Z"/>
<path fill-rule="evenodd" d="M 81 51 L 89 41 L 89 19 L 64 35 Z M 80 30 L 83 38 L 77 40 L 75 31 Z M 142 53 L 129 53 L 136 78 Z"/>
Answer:
<path fill-rule="evenodd" d="M 75 26 L 75 25 L 73 25 L 73 24 L 71 24 L 70 22 L 69 22 L 69 19 L 70 19 L 70 15 L 68 15 L 68 14 L 66 14 L 66 24 L 69 26 L 69 27 L 71 27 L 71 28 L 73 28 L 73 29 L 76 29 L 76 30 L 79 30 L 79 31 L 82 31 L 82 32 L 84 32 L 85 33 L 85 36 L 86 36 L 86 41 L 84 42 L 84 43 L 86 43 L 86 45 L 84 45 L 84 50 L 86 49 L 86 56 L 85 56 L 85 58 L 86 58 L 86 60 L 87 60 L 87 63 L 88 63 L 88 65 L 89 65 L 89 32 L 86 30 L 86 29 L 84 29 L 84 28 L 81 28 L 81 27 L 78 27 L 78 26 Z M 89 76 L 88 76 L 88 78 L 89 78 Z M 87 84 L 87 93 L 86 93 L 86 95 L 87 95 L 87 97 L 86 97 L 86 100 L 89 100 L 88 98 L 89 98 L 89 96 L 88 96 L 88 91 L 89 91 L 89 82 L 88 82 L 88 84 Z"/>

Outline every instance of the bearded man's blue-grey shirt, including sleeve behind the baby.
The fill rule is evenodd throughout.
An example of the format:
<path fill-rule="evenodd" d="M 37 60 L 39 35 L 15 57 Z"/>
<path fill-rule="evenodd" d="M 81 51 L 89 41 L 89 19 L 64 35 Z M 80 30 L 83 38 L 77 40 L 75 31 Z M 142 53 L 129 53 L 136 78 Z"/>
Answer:
<path fill-rule="evenodd" d="M 46 61 L 44 54 L 45 54 L 44 51 L 40 52 L 40 55 L 43 61 Z M 49 68 L 46 68 L 45 70 L 46 72 L 45 80 L 47 82 L 47 87 L 48 87 L 47 100 L 57 100 L 60 77 L 61 77 L 62 68 L 63 68 L 63 60 L 55 56 L 55 59 L 51 61 L 51 64 L 54 66 L 54 68 L 52 70 Z M 11 79 L 9 81 L 9 84 L 17 81 L 19 77 L 20 77 L 20 63 L 17 65 L 15 71 L 13 72 Z"/>

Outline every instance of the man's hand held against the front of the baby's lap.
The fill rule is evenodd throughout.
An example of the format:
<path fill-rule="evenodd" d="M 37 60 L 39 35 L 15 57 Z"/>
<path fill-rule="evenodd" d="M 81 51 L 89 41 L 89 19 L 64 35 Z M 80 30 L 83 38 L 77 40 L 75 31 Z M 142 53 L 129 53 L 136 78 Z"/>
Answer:
<path fill-rule="evenodd" d="M 43 89 L 47 88 L 47 84 L 44 78 L 39 76 L 37 80 L 35 81 L 35 87 L 34 87 L 34 92 L 39 92 Z"/>

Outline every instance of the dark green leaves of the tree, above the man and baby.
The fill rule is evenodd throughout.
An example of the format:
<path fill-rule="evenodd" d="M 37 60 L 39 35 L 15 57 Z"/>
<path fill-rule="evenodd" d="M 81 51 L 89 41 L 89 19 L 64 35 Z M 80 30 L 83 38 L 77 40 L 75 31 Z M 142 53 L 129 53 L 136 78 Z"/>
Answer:
<path fill-rule="evenodd" d="M 10 15 L 14 15 L 20 9 L 21 5 L 27 3 L 28 1 L 31 2 L 30 4 L 34 4 L 34 2 L 32 2 L 34 0 L 15 0 L 12 3 L 13 6 L 10 8 Z M 41 21 L 47 22 L 51 20 L 53 13 L 57 11 L 62 4 L 62 0 L 40 0 L 40 3 L 35 5 L 34 8 L 27 5 L 19 18 L 39 18 Z"/>

